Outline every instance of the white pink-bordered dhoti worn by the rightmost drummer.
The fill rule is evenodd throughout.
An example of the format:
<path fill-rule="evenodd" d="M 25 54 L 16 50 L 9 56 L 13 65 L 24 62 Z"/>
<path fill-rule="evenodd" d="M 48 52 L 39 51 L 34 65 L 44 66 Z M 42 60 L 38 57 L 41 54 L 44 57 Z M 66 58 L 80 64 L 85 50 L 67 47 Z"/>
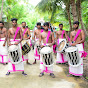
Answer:
<path fill-rule="evenodd" d="M 83 44 L 77 44 L 76 45 L 79 51 L 79 56 L 82 59 L 81 65 L 79 65 L 78 67 L 72 67 L 69 65 L 69 73 L 75 76 L 82 76 L 83 75 L 83 58 L 82 53 L 84 51 L 83 49 Z"/>

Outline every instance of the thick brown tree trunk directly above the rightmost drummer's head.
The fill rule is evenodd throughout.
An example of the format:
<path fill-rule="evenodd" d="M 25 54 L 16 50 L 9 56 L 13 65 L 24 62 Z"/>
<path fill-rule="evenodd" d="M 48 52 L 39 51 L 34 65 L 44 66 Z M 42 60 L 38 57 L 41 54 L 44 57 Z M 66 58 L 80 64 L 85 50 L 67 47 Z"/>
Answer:
<path fill-rule="evenodd" d="M 78 21 L 75 0 L 70 0 L 73 21 Z"/>

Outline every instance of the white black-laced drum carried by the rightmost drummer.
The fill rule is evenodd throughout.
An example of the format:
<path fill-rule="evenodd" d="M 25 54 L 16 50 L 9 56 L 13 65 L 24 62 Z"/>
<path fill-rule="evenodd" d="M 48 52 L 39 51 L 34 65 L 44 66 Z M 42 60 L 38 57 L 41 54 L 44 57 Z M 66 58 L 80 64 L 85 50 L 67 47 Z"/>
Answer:
<path fill-rule="evenodd" d="M 77 47 L 69 47 L 65 50 L 65 52 L 70 66 L 77 67 L 81 65 L 82 60 L 79 56 Z"/>

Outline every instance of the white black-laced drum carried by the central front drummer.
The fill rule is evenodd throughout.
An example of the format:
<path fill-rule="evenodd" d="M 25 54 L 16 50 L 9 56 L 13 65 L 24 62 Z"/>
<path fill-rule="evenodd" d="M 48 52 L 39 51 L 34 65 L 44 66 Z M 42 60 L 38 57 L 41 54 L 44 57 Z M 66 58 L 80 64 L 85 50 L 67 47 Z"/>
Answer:
<path fill-rule="evenodd" d="M 52 52 L 52 49 L 48 46 L 41 49 L 42 62 L 46 67 L 51 67 L 54 64 Z"/>

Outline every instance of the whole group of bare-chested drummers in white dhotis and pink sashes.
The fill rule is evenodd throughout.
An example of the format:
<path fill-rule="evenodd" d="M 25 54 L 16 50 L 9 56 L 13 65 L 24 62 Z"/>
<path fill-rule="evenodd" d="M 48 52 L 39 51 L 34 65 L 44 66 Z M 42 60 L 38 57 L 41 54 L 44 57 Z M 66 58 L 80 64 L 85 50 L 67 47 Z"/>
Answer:
<path fill-rule="evenodd" d="M 30 40 L 31 38 L 30 30 L 29 28 L 26 27 L 26 22 L 22 22 L 22 28 L 21 28 L 21 27 L 17 27 L 16 18 L 11 19 L 11 21 L 12 21 L 12 28 L 10 28 L 8 31 L 6 28 L 4 28 L 4 23 L 0 21 L 0 49 L 1 49 L 0 63 L 3 63 L 3 64 L 8 63 L 8 72 L 6 75 L 10 75 L 11 72 L 16 72 L 16 71 L 22 71 L 23 75 L 27 75 L 24 72 L 23 62 L 26 61 L 27 64 L 31 65 L 28 62 L 28 52 L 26 49 L 27 48 L 26 46 L 29 45 L 28 49 L 32 46 L 31 40 Z M 55 78 L 55 75 L 53 73 L 53 65 L 52 65 L 53 59 L 50 54 L 51 51 L 53 51 L 53 45 L 55 44 L 55 42 L 57 47 L 56 63 L 58 64 L 58 63 L 68 62 L 70 57 L 67 57 L 65 52 L 60 52 L 58 49 L 60 48 L 59 46 L 61 47 L 63 46 L 63 44 L 61 45 L 61 42 L 63 41 L 65 41 L 65 43 L 69 43 L 68 46 L 70 47 L 76 47 L 78 51 L 76 52 L 79 54 L 78 56 L 81 59 L 81 64 L 78 66 L 69 64 L 69 73 L 75 76 L 82 76 L 83 75 L 83 57 L 85 57 L 87 53 L 84 51 L 85 33 L 83 30 L 79 29 L 79 22 L 75 21 L 73 23 L 74 31 L 70 33 L 70 39 L 68 38 L 66 31 L 63 30 L 63 24 L 59 24 L 60 30 L 56 32 L 56 38 L 54 38 L 54 33 L 50 31 L 49 22 L 45 22 L 43 25 L 43 28 L 44 29 L 41 29 L 41 23 L 37 23 L 37 29 L 34 31 L 35 47 L 34 47 L 33 64 L 36 64 L 36 61 L 40 60 L 41 73 L 39 74 L 39 77 L 42 77 L 44 75 L 44 72 L 46 72 L 46 73 L 50 73 L 50 76 L 52 78 Z M 16 46 L 18 46 L 18 48 Z M 16 48 L 18 49 L 18 51 L 16 51 Z M 27 52 L 26 54 L 22 54 L 23 48 L 26 50 Z M 9 52 L 10 52 L 10 55 L 8 55 Z M 41 52 L 43 56 L 40 54 Z M 72 57 L 74 56 L 72 55 Z M 45 58 L 44 59 L 45 62 L 43 58 Z M 14 61 L 14 59 L 16 60 Z M 19 59 L 21 59 L 20 62 L 19 62 Z M 48 62 L 49 64 L 47 65 Z"/>

